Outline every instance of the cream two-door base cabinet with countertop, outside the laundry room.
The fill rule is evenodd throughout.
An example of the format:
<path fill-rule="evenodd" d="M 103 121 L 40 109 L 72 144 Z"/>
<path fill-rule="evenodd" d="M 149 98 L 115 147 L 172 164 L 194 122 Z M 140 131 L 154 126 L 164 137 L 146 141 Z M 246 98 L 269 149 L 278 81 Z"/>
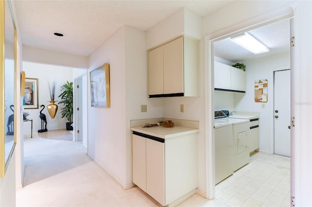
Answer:
<path fill-rule="evenodd" d="M 198 129 L 178 126 L 131 129 L 134 184 L 162 206 L 196 192 Z"/>

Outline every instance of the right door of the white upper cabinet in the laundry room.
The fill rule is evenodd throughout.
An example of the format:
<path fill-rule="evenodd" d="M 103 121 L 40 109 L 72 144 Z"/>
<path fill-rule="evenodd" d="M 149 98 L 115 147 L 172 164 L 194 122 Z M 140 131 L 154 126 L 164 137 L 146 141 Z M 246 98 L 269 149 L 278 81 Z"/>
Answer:
<path fill-rule="evenodd" d="M 231 66 L 231 90 L 246 91 L 245 71 Z"/>

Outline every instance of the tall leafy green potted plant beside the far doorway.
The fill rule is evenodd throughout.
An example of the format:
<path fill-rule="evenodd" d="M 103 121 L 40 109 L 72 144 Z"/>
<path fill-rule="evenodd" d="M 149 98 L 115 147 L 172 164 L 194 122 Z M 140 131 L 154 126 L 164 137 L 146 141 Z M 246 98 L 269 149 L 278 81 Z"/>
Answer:
<path fill-rule="evenodd" d="M 60 114 L 62 114 L 61 118 L 66 117 L 68 122 L 66 123 L 66 130 L 73 130 L 73 82 L 64 83 L 60 87 L 60 91 L 62 92 L 59 94 L 59 97 L 61 98 L 61 101 L 59 101 L 59 104 L 63 104 L 63 108 L 60 110 Z"/>

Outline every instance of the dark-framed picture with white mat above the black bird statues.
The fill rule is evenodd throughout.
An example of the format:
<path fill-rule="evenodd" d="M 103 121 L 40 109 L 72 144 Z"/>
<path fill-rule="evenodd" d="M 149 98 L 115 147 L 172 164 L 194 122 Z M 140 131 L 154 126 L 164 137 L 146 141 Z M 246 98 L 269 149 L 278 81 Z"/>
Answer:
<path fill-rule="evenodd" d="M 25 78 L 24 109 L 38 109 L 38 78 Z"/>

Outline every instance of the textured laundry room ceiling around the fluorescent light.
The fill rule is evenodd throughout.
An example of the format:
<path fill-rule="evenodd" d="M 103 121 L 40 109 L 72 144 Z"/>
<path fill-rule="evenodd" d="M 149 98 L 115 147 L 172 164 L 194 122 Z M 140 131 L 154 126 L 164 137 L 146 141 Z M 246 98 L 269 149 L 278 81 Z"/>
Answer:
<path fill-rule="evenodd" d="M 248 31 L 270 49 L 270 52 L 254 55 L 230 40 L 222 39 L 214 43 L 215 56 L 232 62 L 239 62 L 290 51 L 290 20 L 284 19 L 272 24 Z"/>

